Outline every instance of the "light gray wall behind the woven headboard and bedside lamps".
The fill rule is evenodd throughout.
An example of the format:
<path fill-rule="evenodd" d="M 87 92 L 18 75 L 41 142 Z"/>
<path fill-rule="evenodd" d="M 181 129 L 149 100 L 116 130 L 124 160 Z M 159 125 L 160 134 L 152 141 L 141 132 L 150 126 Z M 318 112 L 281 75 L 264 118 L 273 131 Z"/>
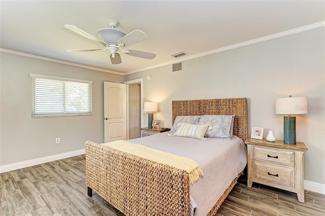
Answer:
<path fill-rule="evenodd" d="M 297 116 L 297 141 L 308 147 L 305 180 L 325 184 L 324 46 L 320 27 L 187 60 L 181 72 L 163 66 L 127 75 L 124 81 L 144 78 L 144 102 L 159 103 L 154 119 L 161 119 L 163 127 L 172 126 L 173 100 L 246 97 L 249 136 L 251 127 L 261 127 L 264 137 L 273 130 L 277 139 L 283 139 L 283 116 L 275 114 L 275 99 L 307 96 L 309 106 L 318 110 Z"/>

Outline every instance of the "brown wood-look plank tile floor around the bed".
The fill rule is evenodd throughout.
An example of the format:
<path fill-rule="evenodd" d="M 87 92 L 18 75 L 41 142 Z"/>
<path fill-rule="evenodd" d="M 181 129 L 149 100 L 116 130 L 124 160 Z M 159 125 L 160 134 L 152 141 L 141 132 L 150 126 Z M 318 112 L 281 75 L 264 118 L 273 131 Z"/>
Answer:
<path fill-rule="evenodd" d="M 1 173 L 0 216 L 2 215 L 124 214 L 95 192 L 91 198 L 87 196 L 85 155 L 81 155 Z M 294 193 L 259 184 L 247 188 L 245 184 L 238 183 L 216 215 L 323 216 L 325 195 L 306 191 L 305 203 L 300 203 Z"/>

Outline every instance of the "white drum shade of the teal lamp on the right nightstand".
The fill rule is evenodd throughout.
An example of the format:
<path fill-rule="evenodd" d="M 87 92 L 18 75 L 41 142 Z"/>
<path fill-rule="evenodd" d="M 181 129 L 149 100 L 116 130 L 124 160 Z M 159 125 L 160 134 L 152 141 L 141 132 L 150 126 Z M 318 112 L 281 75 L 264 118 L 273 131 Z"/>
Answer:
<path fill-rule="evenodd" d="M 276 114 L 306 114 L 307 97 L 291 97 L 291 98 L 277 98 L 275 99 L 275 113 Z"/>

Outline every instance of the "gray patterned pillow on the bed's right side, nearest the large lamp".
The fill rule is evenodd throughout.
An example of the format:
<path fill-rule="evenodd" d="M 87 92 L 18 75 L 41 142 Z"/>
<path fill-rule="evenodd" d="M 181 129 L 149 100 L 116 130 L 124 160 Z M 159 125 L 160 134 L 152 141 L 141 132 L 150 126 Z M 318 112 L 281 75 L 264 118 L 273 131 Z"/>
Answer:
<path fill-rule="evenodd" d="M 208 130 L 206 137 L 230 139 L 230 129 L 233 115 L 203 115 L 200 118 L 199 125 L 211 125 L 212 130 Z"/>

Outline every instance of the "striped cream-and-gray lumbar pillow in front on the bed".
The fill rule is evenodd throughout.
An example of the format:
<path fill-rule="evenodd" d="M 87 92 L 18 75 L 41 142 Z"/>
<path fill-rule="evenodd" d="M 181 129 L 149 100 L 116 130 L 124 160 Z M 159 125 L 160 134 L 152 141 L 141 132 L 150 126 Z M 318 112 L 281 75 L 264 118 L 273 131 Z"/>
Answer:
<path fill-rule="evenodd" d="M 174 133 L 174 136 L 206 140 L 206 138 L 204 138 L 204 135 L 208 128 L 209 125 L 192 125 L 180 122 L 177 131 Z"/>

